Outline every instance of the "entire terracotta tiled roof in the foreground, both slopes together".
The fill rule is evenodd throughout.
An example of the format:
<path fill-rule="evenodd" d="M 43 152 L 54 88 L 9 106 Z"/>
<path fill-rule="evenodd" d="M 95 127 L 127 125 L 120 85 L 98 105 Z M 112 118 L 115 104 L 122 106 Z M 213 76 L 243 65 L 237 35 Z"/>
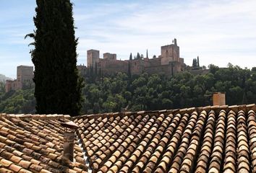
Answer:
<path fill-rule="evenodd" d="M 73 118 L 0 114 L 0 172 L 256 172 L 255 112 L 241 105 Z M 70 120 L 80 126 L 74 162 L 61 158 L 61 123 Z"/>

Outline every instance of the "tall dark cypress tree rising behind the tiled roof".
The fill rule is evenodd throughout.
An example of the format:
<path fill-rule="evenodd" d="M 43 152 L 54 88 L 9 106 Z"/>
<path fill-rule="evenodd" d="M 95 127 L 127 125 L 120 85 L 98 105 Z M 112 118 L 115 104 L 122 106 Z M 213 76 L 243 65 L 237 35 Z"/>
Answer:
<path fill-rule="evenodd" d="M 70 0 L 37 0 L 34 17 L 36 110 L 40 114 L 78 115 L 82 79 L 77 71 L 77 39 Z"/>

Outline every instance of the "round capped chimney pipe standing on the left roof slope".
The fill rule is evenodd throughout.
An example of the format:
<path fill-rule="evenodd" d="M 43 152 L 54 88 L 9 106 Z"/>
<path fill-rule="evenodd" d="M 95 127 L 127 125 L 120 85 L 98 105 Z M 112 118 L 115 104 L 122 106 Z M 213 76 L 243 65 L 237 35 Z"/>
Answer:
<path fill-rule="evenodd" d="M 69 161 L 73 161 L 74 159 L 74 132 L 78 128 L 79 125 L 74 123 L 73 121 L 69 121 L 67 123 L 61 123 L 61 125 L 65 128 L 64 130 L 64 158 L 69 159 Z"/>

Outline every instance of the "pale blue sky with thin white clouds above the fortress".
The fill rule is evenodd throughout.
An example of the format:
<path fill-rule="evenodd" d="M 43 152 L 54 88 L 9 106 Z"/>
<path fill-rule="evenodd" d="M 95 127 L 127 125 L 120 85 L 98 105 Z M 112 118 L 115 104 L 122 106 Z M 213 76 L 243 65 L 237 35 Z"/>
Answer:
<path fill-rule="evenodd" d="M 256 66 L 255 0 L 71 0 L 79 37 L 77 65 L 89 49 L 128 59 L 137 52 L 151 58 L 174 38 L 184 63 Z M 20 65 L 33 66 L 25 35 L 35 26 L 35 0 L 0 0 L 0 74 L 16 78 Z"/>

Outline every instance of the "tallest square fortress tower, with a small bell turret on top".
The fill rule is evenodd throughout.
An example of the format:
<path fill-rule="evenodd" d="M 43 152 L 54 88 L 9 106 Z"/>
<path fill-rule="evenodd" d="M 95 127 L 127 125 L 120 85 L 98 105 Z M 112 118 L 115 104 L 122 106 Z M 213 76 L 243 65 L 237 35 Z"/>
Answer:
<path fill-rule="evenodd" d="M 173 44 L 161 47 L 161 65 L 167 65 L 169 62 L 179 62 L 179 46 L 174 38 Z"/>

